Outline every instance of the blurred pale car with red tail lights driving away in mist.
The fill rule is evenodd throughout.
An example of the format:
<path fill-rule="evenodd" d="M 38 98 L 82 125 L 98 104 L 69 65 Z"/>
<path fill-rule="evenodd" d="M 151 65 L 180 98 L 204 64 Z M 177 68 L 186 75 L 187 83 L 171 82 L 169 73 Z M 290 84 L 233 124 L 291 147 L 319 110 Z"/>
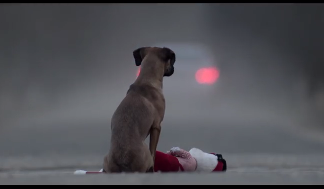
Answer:
<path fill-rule="evenodd" d="M 158 43 L 152 46 L 168 47 L 176 54 L 175 72 L 164 77 L 163 81 L 167 105 L 193 107 L 208 104 L 220 78 L 215 57 L 208 47 L 196 43 Z M 140 67 L 137 76 L 139 73 Z"/>

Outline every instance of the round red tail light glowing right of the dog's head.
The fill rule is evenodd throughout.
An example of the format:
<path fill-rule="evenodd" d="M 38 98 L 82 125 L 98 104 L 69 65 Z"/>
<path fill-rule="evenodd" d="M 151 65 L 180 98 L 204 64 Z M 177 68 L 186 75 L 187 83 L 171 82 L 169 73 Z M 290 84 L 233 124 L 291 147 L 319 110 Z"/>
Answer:
<path fill-rule="evenodd" d="M 219 78 L 219 71 L 216 68 L 201 68 L 196 72 L 196 81 L 199 84 L 211 85 Z"/>

